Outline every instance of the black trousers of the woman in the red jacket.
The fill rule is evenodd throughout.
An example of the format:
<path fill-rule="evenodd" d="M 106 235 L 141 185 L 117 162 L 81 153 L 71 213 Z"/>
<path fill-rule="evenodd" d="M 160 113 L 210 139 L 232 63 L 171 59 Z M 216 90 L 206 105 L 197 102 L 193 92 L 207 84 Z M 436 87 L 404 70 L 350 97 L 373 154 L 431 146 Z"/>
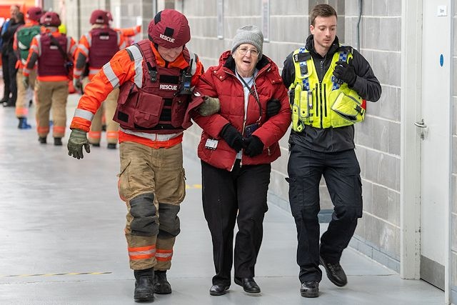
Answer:
<path fill-rule="evenodd" d="M 270 164 L 239 166 L 233 171 L 201 161 L 203 209 L 213 241 L 216 275 L 213 284 L 231 284 L 233 229 L 238 224 L 234 249 L 235 276 L 253 277 L 263 237 L 263 216 Z M 237 217 L 238 214 L 238 217 Z"/>

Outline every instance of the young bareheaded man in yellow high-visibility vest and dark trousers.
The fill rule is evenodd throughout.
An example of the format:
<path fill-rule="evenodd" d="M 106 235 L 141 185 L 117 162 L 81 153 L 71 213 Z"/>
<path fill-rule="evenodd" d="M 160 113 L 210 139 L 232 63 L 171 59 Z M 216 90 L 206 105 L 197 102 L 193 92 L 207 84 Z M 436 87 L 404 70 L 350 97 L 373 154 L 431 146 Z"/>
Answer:
<path fill-rule="evenodd" d="M 363 121 L 365 100 L 377 101 L 381 85 L 358 51 L 338 44 L 336 11 L 318 4 L 311 11 L 311 35 L 284 62 L 292 126 L 288 160 L 289 201 L 296 222 L 301 296 L 318 296 L 326 269 L 336 286 L 347 283 L 343 249 L 362 216 L 360 167 L 353 124 Z M 334 210 L 319 245 L 319 181 L 326 180 Z"/>

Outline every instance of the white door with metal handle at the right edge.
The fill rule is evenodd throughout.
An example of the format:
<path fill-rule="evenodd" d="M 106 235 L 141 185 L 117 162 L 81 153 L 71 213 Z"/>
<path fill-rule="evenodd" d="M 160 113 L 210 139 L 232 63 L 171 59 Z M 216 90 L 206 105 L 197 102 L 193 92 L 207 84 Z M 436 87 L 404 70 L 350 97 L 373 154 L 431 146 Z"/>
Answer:
<path fill-rule="evenodd" d="M 440 289 L 448 266 L 451 189 L 451 1 L 423 1 L 421 279 Z M 447 290 L 447 289 L 446 289 Z"/>

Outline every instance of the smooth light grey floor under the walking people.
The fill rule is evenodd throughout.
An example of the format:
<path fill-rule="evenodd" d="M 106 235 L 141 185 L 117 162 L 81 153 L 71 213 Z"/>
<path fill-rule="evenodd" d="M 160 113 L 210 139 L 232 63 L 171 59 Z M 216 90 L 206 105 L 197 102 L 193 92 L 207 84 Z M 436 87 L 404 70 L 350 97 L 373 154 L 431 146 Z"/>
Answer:
<path fill-rule="evenodd" d="M 69 97 L 69 120 L 76 99 Z M 126 207 L 116 187 L 119 151 L 106 149 L 103 139 L 100 148 L 74 159 L 66 150 L 69 130 L 64 146 L 54 146 L 51 136 L 49 144 L 39 144 L 34 106 L 29 118 L 32 129 L 19 130 L 14 109 L 0 106 L 0 304 L 135 304 L 123 234 Z M 444 304 L 443 291 L 403 280 L 353 249 L 342 258 L 346 287 L 324 276 L 320 296 L 302 298 L 295 224 L 272 204 L 256 265 L 261 294 L 232 284 L 228 294 L 210 296 L 211 237 L 201 209 L 200 164 L 189 157 L 194 154 L 186 150 L 187 194 L 168 274 L 173 293 L 156 295 L 154 304 Z"/>

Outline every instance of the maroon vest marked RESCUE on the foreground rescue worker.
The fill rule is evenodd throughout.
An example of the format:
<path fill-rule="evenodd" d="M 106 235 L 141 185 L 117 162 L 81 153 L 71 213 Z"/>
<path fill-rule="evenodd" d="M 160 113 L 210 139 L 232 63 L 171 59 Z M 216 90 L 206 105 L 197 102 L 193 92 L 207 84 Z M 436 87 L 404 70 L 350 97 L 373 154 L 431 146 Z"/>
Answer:
<path fill-rule="evenodd" d="M 190 95 L 178 94 L 183 71 L 157 66 L 149 40 L 141 40 L 134 46 L 143 55 L 143 85 L 139 88 L 133 81 L 121 85 L 114 121 L 124 129 L 150 134 L 183 131 L 190 101 Z M 189 63 L 189 50 L 184 48 L 183 52 Z"/>

